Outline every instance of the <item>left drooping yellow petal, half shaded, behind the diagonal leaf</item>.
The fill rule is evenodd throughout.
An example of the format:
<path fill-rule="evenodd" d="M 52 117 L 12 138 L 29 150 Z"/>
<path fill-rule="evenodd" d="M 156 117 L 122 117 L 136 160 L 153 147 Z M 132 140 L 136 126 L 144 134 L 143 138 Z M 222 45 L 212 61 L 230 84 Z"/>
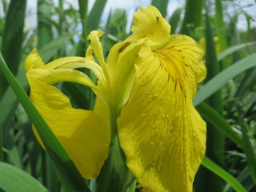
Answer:
<path fill-rule="evenodd" d="M 109 126 L 99 114 L 72 108 L 56 87 L 31 76 L 30 98 L 84 178 L 98 177 L 110 144 Z M 34 130 L 38 140 L 38 134 Z M 42 142 L 41 142 L 42 144 Z"/>

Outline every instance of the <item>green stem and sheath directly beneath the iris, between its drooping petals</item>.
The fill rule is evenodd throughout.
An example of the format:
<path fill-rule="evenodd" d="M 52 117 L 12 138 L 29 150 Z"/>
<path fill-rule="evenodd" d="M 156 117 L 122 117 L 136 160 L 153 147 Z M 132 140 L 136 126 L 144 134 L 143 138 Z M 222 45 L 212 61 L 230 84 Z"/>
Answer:
<path fill-rule="evenodd" d="M 102 168 L 97 192 L 134 192 L 136 179 L 126 166 L 126 156 L 118 139 L 118 112 L 110 108 L 111 142 L 110 152 Z"/>

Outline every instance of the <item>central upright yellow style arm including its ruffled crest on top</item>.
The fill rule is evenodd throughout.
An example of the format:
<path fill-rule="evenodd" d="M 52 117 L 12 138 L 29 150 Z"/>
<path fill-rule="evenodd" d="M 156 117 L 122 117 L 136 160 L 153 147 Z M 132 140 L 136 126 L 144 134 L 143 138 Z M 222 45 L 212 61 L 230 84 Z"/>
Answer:
<path fill-rule="evenodd" d="M 129 98 L 135 78 L 134 62 L 142 44 L 146 41 L 158 44 L 168 40 L 170 25 L 154 6 L 140 7 L 140 11 L 134 14 L 132 31 L 134 34 L 112 47 L 106 62 L 114 102 L 110 105 L 118 108 L 118 111 Z"/>

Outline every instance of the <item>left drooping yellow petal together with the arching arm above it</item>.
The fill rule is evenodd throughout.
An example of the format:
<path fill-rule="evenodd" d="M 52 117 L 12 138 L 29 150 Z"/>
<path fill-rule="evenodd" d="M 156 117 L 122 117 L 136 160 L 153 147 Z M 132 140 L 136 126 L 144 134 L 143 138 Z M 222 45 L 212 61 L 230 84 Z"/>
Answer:
<path fill-rule="evenodd" d="M 96 111 L 74 109 L 69 98 L 56 87 L 51 86 L 53 83 L 62 81 L 78 82 L 90 86 L 98 94 L 99 87 L 94 85 L 86 74 L 78 70 L 66 69 L 67 66 L 72 68 L 86 66 L 88 63 L 82 64 L 81 58 L 62 58 L 46 66 L 43 62 L 42 65 L 35 66 L 34 61 L 38 61 L 39 58 L 38 54 L 33 52 L 26 59 L 30 99 L 62 143 L 82 176 L 89 179 L 96 178 L 108 155 L 109 123 L 103 121 L 102 116 L 98 114 L 99 107 Z M 75 62 L 78 60 L 79 62 Z M 91 68 L 97 70 L 94 66 Z M 34 134 L 42 144 L 35 128 Z"/>

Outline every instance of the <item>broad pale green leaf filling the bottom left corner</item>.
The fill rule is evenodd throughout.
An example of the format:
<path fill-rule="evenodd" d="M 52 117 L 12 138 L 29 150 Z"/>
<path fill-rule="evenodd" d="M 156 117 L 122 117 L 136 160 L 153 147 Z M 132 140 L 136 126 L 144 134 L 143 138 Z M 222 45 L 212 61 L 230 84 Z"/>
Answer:
<path fill-rule="evenodd" d="M 40 182 L 15 166 L 0 162 L 0 190 L 5 191 L 38 191 L 46 192 L 46 188 Z"/>

